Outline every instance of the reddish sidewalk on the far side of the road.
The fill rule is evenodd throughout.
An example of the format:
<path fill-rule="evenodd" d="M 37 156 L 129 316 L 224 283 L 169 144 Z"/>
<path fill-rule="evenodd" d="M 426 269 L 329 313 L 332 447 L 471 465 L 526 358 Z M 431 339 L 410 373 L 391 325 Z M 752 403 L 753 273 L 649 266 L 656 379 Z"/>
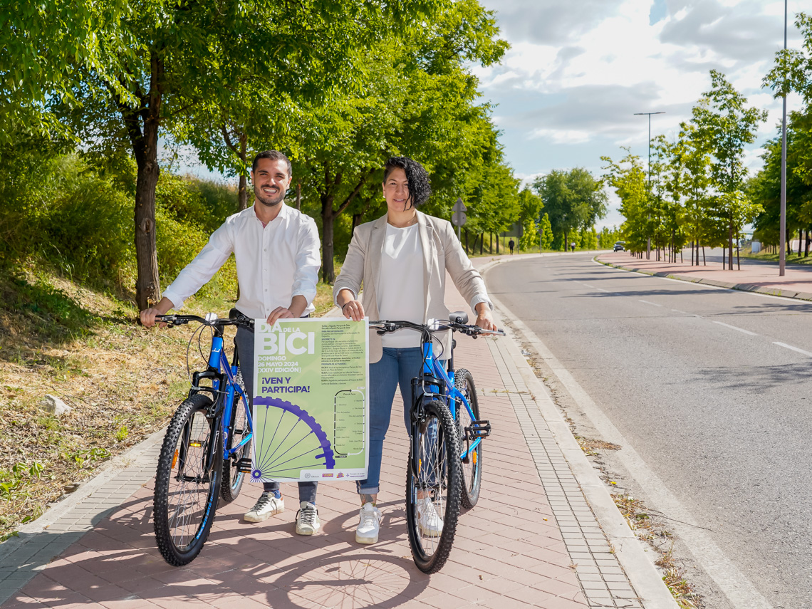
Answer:
<path fill-rule="evenodd" d="M 655 253 L 652 253 L 652 257 Z M 690 256 L 689 256 L 690 257 Z M 784 296 L 812 300 L 812 269 L 788 265 L 784 277 L 778 274 L 778 265 L 756 264 L 742 259 L 741 270 L 723 270 L 720 262 L 691 266 L 689 262 L 663 262 L 632 257 L 628 252 L 601 253 L 596 260 L 619 269 L 638 273 L 670 277 L 693 283 L 729 287 L 745 292 L 760 292 L 771 296 Z M 734 259 L 734 268 L 736 266 Z"/>

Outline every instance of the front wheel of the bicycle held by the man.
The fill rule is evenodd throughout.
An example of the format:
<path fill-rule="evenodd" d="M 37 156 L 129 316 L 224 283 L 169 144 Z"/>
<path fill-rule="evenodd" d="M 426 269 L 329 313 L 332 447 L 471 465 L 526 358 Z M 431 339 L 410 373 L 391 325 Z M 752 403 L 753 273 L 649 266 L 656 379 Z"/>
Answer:
<path fill-rule="evenodd" d="M 211 404 L 211 398 L 203 394 L 184 400 L 166 430 L 158 457 L 155 538 L 163 558 L 175 567 L 200 554 L 217 510 L 222 442 L 218 418 L 206 418 Z"/>

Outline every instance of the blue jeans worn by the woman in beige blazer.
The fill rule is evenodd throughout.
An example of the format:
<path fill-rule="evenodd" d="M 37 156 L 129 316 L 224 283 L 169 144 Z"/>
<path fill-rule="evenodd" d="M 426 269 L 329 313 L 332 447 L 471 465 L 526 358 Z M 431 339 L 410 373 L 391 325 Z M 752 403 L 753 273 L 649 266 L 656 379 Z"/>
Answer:
<path fill-rule="evenodd" d="M 423 349 L 383 348 L 383 356 L 369 365 L 369 469 L 366 480 L 358 482 L 359 495 L 375 495 L 380 490 L 383 440 L 387 437 L 395 399 L 400 384 L 404 398 L 404 425 L 409 429 L 409 409 L 412 408 L 412 378 L 423 369 Z"/>

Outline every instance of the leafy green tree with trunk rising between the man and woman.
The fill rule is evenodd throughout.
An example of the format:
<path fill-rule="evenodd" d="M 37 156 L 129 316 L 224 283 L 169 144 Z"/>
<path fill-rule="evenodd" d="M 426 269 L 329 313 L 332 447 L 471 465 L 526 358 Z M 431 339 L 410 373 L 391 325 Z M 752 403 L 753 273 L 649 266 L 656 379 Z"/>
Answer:
<path fill-rule="evenodd" d="M 308 145 L 294 154 L 294 165 L 322 220 L 326 282 L 335 279 L 335 222 L 348 209 L 368 208 L 365 192 L 380 197 L 387 157 L 404 154 L 421 162 L 434 191 L 427 210 L 448 217 L 466 192 L 466 176 L 494 156 L 490 106 L 477 103 L 468 66 L 499 60 L 506 43 L 497 34 L 492 13 L 475 0 L 450 3 L 420 31 L 370 45 L 364 89 L 336 93 L 329 105 L 304 111 L 296 128 Z"/>

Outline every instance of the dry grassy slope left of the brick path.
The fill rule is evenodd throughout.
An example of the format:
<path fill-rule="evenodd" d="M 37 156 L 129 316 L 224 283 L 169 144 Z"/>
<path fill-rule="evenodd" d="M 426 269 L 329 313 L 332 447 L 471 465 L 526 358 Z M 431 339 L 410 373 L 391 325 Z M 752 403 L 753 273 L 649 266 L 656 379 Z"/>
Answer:
<path fill-rule="evenodd" d="M 329 286 L 316 304 L 317 314 L 330 309 Z M 231 306 L 191 299 L 184 313 Z M 188 330 L 148 330 L 136 313 L 53 275 L 0 279 L 0 541 L 160 430 L 186 395 Z M 45 412 L 45 394 L 71 412 Z"/>

